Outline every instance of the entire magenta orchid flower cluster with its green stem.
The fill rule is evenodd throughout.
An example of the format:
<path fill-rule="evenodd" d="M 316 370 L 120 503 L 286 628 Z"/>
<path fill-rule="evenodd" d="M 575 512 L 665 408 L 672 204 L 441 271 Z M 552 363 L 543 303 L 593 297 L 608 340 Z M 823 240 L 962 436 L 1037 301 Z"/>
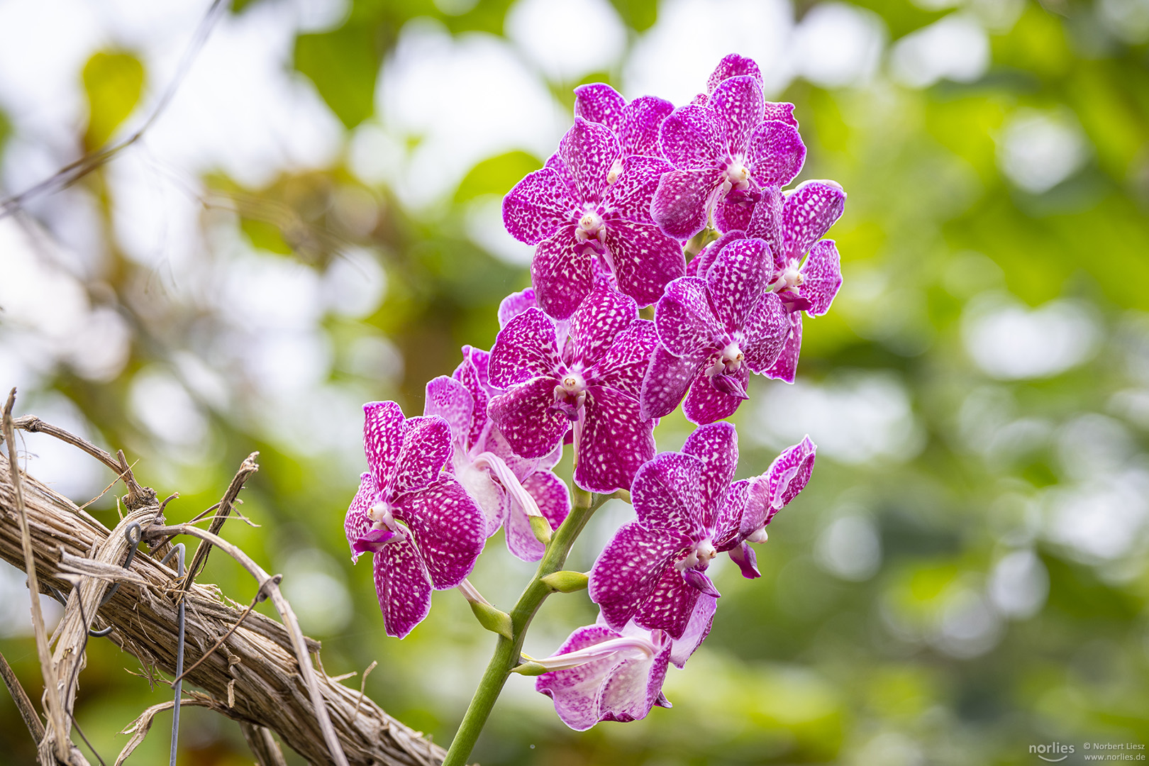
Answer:
<path fill-rule="evenodd" d="M 464 347 L 454 373 L 427 384 L 421 417 L 364 407 L 369 471 L 345 529 L 354 557 L 373 556 L 387 633 L 406 636 L 432 590 L 460 588 L 501 634 L 449 763 L 465 759 L 512 671 L 538 675 L 579 730 L 669 706 L 668 666 L 697 649 L 718 603 L 709 565 L 725 554 L 759 577 L 751 544 L 813 467 L 807 438 L 735 481 L 738 434 L 723 420 L 749 397 L 751 372 L 793 382 L 802 315 L 825 314 L 841 286 L 824 235 L 846 193 L 828 180 L 785 188 L 805 158 L 794 106 L 766 101 L 757 65 L 738 55 L 678 108 L 603 84 L 574 94 L 557 152 L 503 200 L 507 230 L 535 252 L 532 287 L 503 300 L 493 348 Z M 655 426 L 680 403 L 697 428 L 657 454 Z M 553 472 L 568 444 L 572 489 Z M 637 519 L 589 573 L 562 571 L 611 496 Z M 465 579 L 500 527 L 512 555 L 540 560 L 510 613 Z M 542 598 L 581 587 L 597 622 L 549 658 L 523 656 Z"/>

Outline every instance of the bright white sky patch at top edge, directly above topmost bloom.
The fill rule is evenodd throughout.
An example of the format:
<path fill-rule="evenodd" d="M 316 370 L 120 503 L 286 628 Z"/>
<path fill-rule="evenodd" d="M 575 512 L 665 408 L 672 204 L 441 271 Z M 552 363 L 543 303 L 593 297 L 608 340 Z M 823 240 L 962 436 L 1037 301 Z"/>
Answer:
<path fill-rule="evenodd" d="M 623 68 L 624 93 L 684 106 L 705 91 L 723 56 L 738 53 L 757 62 L 769 98 L 793 77 L 793 26 L 786 0 L 665 0 Z"/>

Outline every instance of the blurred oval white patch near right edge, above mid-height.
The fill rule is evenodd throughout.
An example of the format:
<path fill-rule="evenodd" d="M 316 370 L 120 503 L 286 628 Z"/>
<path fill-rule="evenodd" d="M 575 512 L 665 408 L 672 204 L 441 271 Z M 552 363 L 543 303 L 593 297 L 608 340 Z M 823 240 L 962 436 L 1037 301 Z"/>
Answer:
<path fill-rule="evenodd" d="M 1008 294 L 989 293 L 966 305 L 962 339 L 993 378 L 1048 378 L 1093 357 L 1101 325 L 1088 305 L 1075 301 L 1059 299 L 1031 310 Z"/>

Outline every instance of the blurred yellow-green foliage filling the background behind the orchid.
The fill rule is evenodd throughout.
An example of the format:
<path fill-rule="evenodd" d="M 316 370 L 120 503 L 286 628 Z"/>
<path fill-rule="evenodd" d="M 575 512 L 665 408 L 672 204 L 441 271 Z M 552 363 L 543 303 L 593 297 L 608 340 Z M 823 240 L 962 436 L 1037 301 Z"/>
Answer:
<path fill-rule="evenodd" d="M 234 13 L 250 5 L 237 3 Z M 654 2 L 614 5 L 634 34 L 656 23 Z M 800 14 L 815 6 L 796 5 Z M 879 14 L 895 41 L 949 13 L 903 0 L 856 5 Z M 452 33 L 501 33 L 508 6 L 479 2 L 453 16 L 431 2 L 356 2 L 337 29 L 298 37 L 294 65 L 353 129 L 380 117 L 380 62 L 387 67 L 406 21 L 433 16 Z M 1149 358 L 1149 51 L 1146 44 L 1089 44 L 1093 14 L 1077 1 L 1025 3 L 1008 31 L 990 33 L 992 65 L 973 83 L 915 90 L 880 75 L 866 86 L 827 90 L 797 79 L 780 95 L 796 105 L 809 147 L 803 178 L 833 178 L 849 193 L 832 232 L 846 286 L 830 315 L 805 323 L 801 384 L 834 390 L 887 376 L 912 408 L 913 430 L 902 438 L 917 446 L 902 457 L 863 462 L 835 459 L 832 450 L 819 455 L 809 488 L 759 549 L 762 579 L 746 581 L 728 567 L 718 573 L 723 598 L 714 630 L 666 682 L 673 710 L 576 734 L 530 680 L 511 679 L 477 761 L 1032 764 L 1032 744 L 1149 743 L 1149 527 L 1129 527 L 1135 539 L 1111 557 L 1084 555 L 1055 529 L 1063 500 L 1072 508 L 1077 497 L 1082 513 L 1093 512 L 1086 503 L 1104 489 L 1082 471 L 1101 482 L 1119 473 L 1090 469 L 1104 446 L 1074 439 L 1074 428 L 1121 434 L 1125 472 L 1144 472 L 1149 447 L 1149 417 L 1123 404 L 1142 401 L 1136 396 L 1149 388 L 1149 366 L 1138 366 Z M 83 141 L 98 147 L 131 113 L 144 71 L 129 54 L 98 54 L 83 77 L 91 100 Z M 617 71 L 603 77 L 620 82 Z M 552 87 L 569 106 L 569 85 Z M 1042 192 L 1002 171 L 1003 136 L 1025 110 L 1067 115 L 1088 147 L 1078 171 Z M 529 284 L 525 269 L 469 238 L 468 206 L 506 193 L 540 164 L 524 150 L 485 158 L 429 216 L 404 210 L 385 185 L 358 180 L 342 160 L 260 188 L 223 176 L 207 184 L 234 211 L 248 243 L 277 263 L 323 274 L 349 249 L 378 256 L 387 284 L 383 303 L 365 317 L 322 320 L 333 357 L 330 382 L 360 401 L 395 399 L 417 413 L 425 381 L 449 374 L 462 343 L 489 347 L 499 301 Z M 99 291 L 110 289 L 125 311 L 154 305 L 162 294 L 140 287 L 153 274 L 108 237 L 115 268 Z M 1092 361 L 1044 378 L 988 374 L 963 334 L 971 307 L 986 295 L 1016 296 L 1019 310 L 1055 299 L 1088 307 L 1102 328 Z M 200 402 L 209 418 L 202 451 L 180 456 L 160 443 L 131 412 L 131 380 L 141 370 L 177 370 L 175 353 L 184 349 L 215 364 L 209 340 L 222 330 L 195 305 L 146 317 L 133 325 L 132 356 L 116 380 L 94 384 L 61 367 L 47 387 L 74 402 L 101 441 L 139 458 L 137 474 L 161 496 L 180 492 L 172 519 L 216 502 L 242 457 L 260 450 L 262 469 L 245 490 L 242 511 L 262 526 L 232 521 L 226 535 L 269 571 L 283 571 L 285 588 L 293 575 L 306 575 L 321 594 L 346 590 L 345 619 L 323 618 L 322 610 L 311 612 L 318 617 L 310 626 L 304 619 L 323 641 L 326 671 L 362 671 L 378 660 L 368 693 L 437 742 L 449 742 L 486 663 L 489 634 L 457 594 L 440 593 L 409 639 L 385 637 L 370 567 L 350 567 L 339 524 L 361 464 L 269 436 L 249 415 L 257 394 L 237 389 L 230 408 Z M 372 356 L 391 347 L 401 369 Z M 735 418 L 740 475 L 762 472 L 777 454 L 766 446 L 759 412 L 793 402 L 785 388 L 756 381 L 751 404 L 761 407 L 746 405 Z M 687 433 L 680 415 L 666 418 L 660 447 L 673 449 Z M 1027 433 L 1035 435 L 1023 438 Z M 569 456 L 561 470 L 569 475 Z M 93 508 L 114 521 L 114 504 Z M 618 523 L 625 510 L 612 503 L 600 518 Z M 841 519 L 863 526 L 836 527 Z M 872 529 L 880 551 L 873 568 L 851 573 L 827 564 L 839 528 Z M 592 529 L 571 566 L 589 567 L 601 542 Z M 1002 563 L 1018 552 L 1032 554 L 1034 571 L 1048 581 L 1048 596 L 1030 613 L 1010 613 L 990 598 Z M 472 581 L 506 608 L 531 570 L 506 552 L 500 533 Z M 254 591 L 222 556 L 201 580 L 221 583 L 238 602 Z M 546 655 L 593 619 L 585 594 L 556 596 L 535 621 L 527 651 Z M 5 639 L 0 649 L 37 697 L 31 641 Z M 136 660 L 107 641 L 91 642 L 88 651 L 77 717 L 107 759 L 124 742 L 114 733 L 167 689 L 131 675 Z M 7 698 L 0 698 L 0 761 L 31 763 L 33 749 Z M 164 726 L 161 715 L 136 763 L 162 759 Z M 182 764 L 250 761 L 238 729 L 202 711 L 185 713 L 183 742 Z"/>

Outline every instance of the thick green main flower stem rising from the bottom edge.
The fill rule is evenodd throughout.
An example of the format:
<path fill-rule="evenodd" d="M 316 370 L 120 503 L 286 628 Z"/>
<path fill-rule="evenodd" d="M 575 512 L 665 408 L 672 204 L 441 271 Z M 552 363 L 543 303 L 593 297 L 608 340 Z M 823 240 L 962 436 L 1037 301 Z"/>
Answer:
<path fill-rule="evenodd" d="M 554 593 L 542 579 L 548 574 L 562 571 L 566 564 L 566 556 L 571 551 L 571 546 L 574 544 L 574 540 L 583 532 L 583 527 L 586 526 L 591 514 L 608 500 L 610 500 L 610 495 L 591 495 L 591 493 L 583 492 L 578 487 L 574 488 L 574 503 L 570 516 L 555 531 L 550 544 L 547 546 L 547 552 L 542 555 L 542 560 L 539 562 L 539 568 L 527 583 L 523 595 L 519 596 L 515 609 L 510 612 L 515 637 L 507 639 L 499 636 L 499 642 L 495 644 L 495 652 L 491 657 L 491 663 L 487 665 L 486 672 L 483 674 L 483 680 L 479 681 L 479 688 L 475 690 L 475 696 L 466 709 L 466 714 L 463 715 L 463 722 L 458 725 L 458 732 L 455 733 L 455 740 L 450 743 L 450 749 L 447 751 L 447 757 L 444 759 L 442 766 L 465 766 L 466 759 L 470 757 L 471 750 L 475 749 L 475 743 L 479 738 L 479 733 L 483 732 L 483 727 L 487 722 L 487 717 L 491 715 L 491 710 L 495 706 L 495 701 L 499 698 L 499 694 L 507 682 L 507 676 L 510 675 L 511 668 L 519 664 L 519 652 L 523 651 L 523 639 L 526 637 L 526 629 L 530 627 L 531 620 L 534 619 L 534 613 L 539 611 L 539 606 L 542 605 L 547 596 Z"/>

